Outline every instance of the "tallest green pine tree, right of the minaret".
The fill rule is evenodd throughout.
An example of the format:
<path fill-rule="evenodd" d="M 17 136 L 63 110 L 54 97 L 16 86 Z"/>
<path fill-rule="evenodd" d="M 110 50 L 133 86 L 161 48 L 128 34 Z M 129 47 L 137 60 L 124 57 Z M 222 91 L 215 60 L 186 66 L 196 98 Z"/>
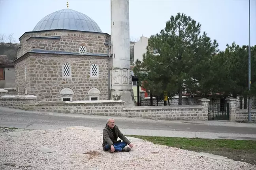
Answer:
<path fill-rule="evenodd" d="M 170 97 L 178 93 L 179 105 L 184 90 L 196 91 L 218 47 L 205 32 L 200 35 L 200 30 L 200 23 L 178 13 L 149 38 L 143 61 L 136 61 L 134 68 L 146 89 L 154 94 L 168 91 Z"/>

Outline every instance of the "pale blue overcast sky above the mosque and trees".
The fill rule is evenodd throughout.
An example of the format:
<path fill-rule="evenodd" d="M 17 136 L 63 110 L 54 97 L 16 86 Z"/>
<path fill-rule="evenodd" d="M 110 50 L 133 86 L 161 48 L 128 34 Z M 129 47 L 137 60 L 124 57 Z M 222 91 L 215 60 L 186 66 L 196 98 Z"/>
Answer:
<path fill-rule="evenodd" d="M 256 0 L 251 1 L 251 46 L 256 44 Z M 46 15 L 66 9 L 67 0 L 0 0 L 0 34 L 15 42 Z M 111 0 L 69 0 L 69 8 L 92 18 L 111 33 Z M 171 15 L 184 13 L 200 22 L 201 31 L 216 39 L 220 50 L 236 42 L 248 45 L 249 0 L 130 0 L 130 39 L 150 37 L 164 29 Z"/>

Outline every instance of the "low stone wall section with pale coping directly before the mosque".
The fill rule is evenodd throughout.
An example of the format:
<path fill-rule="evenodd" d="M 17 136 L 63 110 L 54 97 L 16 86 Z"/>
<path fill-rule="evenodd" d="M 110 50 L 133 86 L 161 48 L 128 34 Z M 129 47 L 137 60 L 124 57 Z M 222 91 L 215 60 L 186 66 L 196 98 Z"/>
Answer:
<path fill-rule="evenodd" d="M 121 116 L 124 102 L 119 101 L 75 101 L 75 102 L 37 102 L 36 111 L 58 113 L 80 113 L 84 115 Z"/>

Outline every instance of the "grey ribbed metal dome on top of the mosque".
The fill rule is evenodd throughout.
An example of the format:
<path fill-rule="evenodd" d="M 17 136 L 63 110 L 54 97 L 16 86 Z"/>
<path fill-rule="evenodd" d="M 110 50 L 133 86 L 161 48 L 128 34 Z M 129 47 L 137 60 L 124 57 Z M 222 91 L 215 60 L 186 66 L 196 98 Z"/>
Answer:
<path fill-rule="evenodd" d="M 47 15 L 36 24 L 33 31 L 56 29 L 102 32 L 94 20 L 72 9 L 62 9 Z"/>

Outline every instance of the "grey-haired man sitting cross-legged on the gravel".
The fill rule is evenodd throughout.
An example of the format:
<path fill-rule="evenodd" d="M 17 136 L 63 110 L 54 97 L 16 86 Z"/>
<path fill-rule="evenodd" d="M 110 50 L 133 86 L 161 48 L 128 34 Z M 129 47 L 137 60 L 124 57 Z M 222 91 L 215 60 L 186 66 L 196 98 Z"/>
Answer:
<path fill-rule="evenodd" d="M 117 138 L 123 140 L 117 141 Z M 131 148 L 124 148 L 126 145 L 129 145 L 131 148 L 133 144 L 120 132 L 119 128 L 115 125 L 115 120 L 109 118 L 107 120 L 106 127 L 103 129 L 103 143 L 102 147 L 104 151 L 113 153 L 115 151 L 119 152 L 130 152 Z"/>

